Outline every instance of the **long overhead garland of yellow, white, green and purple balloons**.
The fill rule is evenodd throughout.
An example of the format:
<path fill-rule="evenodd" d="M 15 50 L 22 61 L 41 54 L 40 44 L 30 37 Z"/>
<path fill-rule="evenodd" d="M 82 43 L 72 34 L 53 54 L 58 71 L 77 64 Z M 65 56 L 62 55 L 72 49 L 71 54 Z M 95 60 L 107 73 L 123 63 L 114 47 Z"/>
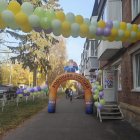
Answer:
<path fill-rule="evenodd" d="M 36 7 L 30 2 L 20 5 L 17 1 L 0 0 L 0 29 L 9 27 L 21 29 L 23 32 L 32 30 L 53 33 L 64 37 L 80 36 L 99 40 L 136 42 L 140 40 L 140 24 L 119 21 L 94 21 L 73 13 L 54 11 Z"/>

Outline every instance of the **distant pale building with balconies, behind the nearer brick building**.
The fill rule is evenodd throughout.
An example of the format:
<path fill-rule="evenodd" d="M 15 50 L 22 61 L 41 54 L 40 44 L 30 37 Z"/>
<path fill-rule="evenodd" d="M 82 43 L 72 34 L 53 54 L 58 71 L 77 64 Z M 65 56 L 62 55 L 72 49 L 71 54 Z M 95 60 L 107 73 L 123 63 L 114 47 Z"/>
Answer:
<path fill-rule="evenodd" d="M 95 20 L 97 20 L 98 2 L 99 0 L 95 0 L 91 19 L 94 18 Z M 98 40 L 86 39 L 84 44 L 84 50 L 83 53 L 81 54 L 80 73 L 90 81 L 95 79 L 96 77 L 95 70 L 99 68 L 97 58 L 97 47 Z"/>

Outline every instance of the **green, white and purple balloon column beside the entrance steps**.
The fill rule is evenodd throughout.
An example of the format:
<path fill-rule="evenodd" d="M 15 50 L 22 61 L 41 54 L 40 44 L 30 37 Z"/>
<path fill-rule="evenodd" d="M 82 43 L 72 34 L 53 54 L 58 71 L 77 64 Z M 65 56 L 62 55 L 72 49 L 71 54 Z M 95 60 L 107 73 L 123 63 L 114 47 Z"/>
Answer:
<path fill-rule="evenodd" d="M 97 76 L 100 76 L 101 73 L 102 73 L 101 70 L 96 70 Z M 96 80 L 92 82 L 92 93 L 93 93 L 95 107 L 101 110 L 105 104 L 104 91 L 103 91 L 103 87 Z"/>

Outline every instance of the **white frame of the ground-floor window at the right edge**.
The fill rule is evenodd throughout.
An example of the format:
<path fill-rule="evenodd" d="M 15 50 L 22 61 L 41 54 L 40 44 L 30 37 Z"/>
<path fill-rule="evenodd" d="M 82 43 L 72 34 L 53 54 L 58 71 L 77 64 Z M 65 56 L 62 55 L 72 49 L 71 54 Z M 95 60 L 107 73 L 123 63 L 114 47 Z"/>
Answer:
<path fill-rule="evenodd" d="M 134 53 L 133 56 L 132 56 L 132 62 L 133 62 L 133 87 L 134 87 L 134 89 L 132 91 L 140 91 L 140 86 L 137 87 L 137 85 L 136 85 L 137 74 L 136 74 L 136 60 L 135 60 L 135 56 L 137 54 L 140 54 L 140 50 L 137 51 L 136 53 Z"/>

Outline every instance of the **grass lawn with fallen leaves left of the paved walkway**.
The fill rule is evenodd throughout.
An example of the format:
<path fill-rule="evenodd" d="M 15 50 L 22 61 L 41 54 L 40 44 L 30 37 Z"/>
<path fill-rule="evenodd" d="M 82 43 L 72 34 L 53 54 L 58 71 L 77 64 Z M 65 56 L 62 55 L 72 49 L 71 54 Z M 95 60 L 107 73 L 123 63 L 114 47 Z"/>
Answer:
<path fill-rule="evenodd" d="M 0 135 L 30 118 L 46 107 L 47 103 L 48 99 L 35 99 L 35 101 L 29 100 L 27 103 L 20 102 L 19 107 L 16 106 L 16 103 L 7 105 L 3 112 L 0 110 Z"/>

